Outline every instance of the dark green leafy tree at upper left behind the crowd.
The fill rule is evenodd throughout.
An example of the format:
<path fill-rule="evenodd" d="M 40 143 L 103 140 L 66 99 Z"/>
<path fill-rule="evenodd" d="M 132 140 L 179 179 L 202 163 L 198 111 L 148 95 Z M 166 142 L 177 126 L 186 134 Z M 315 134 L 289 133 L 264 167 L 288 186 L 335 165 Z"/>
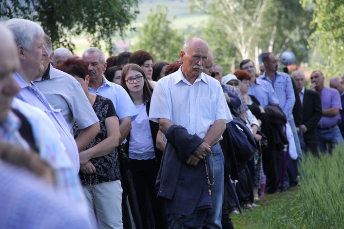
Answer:
<path fill-rule="evenodd" d="M 0 5 L 2 21 L 18 17 L 39 22 L 54 47 L 71 50 L 71 36 L 85 34 L 93 46 L 105 40 L 111 52 L 114 33 L 123 35 L 138 13 L 138 0 L 4 0 Z"/>

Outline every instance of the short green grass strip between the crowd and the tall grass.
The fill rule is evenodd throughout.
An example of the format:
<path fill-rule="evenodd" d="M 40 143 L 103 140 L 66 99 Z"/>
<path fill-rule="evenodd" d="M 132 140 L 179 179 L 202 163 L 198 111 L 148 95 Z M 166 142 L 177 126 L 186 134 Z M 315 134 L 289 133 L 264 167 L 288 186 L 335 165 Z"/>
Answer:
<path fill-rule="evenodd" d="M 240 215 L 231 215 L 236 229 L 246 228 L 303 228 L 301 203 L 296 187 L 282 194 L 265 195 L 258 207 L 243 209 Z"/>

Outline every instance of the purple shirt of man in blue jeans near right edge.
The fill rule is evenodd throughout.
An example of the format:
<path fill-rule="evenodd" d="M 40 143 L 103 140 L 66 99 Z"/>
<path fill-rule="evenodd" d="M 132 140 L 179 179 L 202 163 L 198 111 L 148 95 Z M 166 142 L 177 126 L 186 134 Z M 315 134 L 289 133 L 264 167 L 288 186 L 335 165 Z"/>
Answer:
<path fill-rule="evenodd" d="M 340 102 L 340 95 L 336 89 L 323 87 L 320 92 L 320 97 L 321 97 L 322 110 L 329 109 L 329 108 L 338 108 L 339 110 L 342 109 L 341 102 Z M 328 128 L 340 123 L 340 121 L 341 121 L 341 118 L 340 118 L 339 113 L 334 117 L 322 116 L 320 121 L 318 122 L 318 127 Z"/>

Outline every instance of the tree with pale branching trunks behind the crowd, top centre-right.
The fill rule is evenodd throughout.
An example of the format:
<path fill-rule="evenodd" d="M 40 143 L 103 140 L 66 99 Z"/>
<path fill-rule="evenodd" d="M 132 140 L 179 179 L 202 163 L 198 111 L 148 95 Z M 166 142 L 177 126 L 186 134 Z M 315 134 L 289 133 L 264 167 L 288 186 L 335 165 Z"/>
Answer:
<path fill-rule="evenodd" d="M 280 54 L 288 48 L 299 61 L 308 58 L 304 52 L 307 51 L 311 13 L 304 10 L 298 0 L 189 1 L 190 9 L 209 14 L 203 31 L 207 41 L 213 40 L 211 49 L 221 52 L 227 49 L 227 54 L 232 53 L 227 60 L 214 53 L 215 59 L 227 68 L 247 58 L 258 64 L 262 51 Z M 229 59 L 232 63 L 228 63 Z"/>

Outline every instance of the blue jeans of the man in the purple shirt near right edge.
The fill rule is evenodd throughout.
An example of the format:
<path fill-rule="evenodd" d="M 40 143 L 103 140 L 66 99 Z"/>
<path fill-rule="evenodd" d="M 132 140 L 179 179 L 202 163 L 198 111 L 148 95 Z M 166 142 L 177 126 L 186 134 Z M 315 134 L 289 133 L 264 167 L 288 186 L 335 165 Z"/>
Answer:
<path fill-rule="evenodd" d="M 341 133 L 339 130 L 338 125 L 335 125 L 331 129 L 318 129 L 318 146 L 319 150 L 326 154 L 332 154 L 332 150 L 336 144 L 343 144 L 343 137 L 341 137 Z M 329 144 L 329 147 L 327 147 Z"/>

